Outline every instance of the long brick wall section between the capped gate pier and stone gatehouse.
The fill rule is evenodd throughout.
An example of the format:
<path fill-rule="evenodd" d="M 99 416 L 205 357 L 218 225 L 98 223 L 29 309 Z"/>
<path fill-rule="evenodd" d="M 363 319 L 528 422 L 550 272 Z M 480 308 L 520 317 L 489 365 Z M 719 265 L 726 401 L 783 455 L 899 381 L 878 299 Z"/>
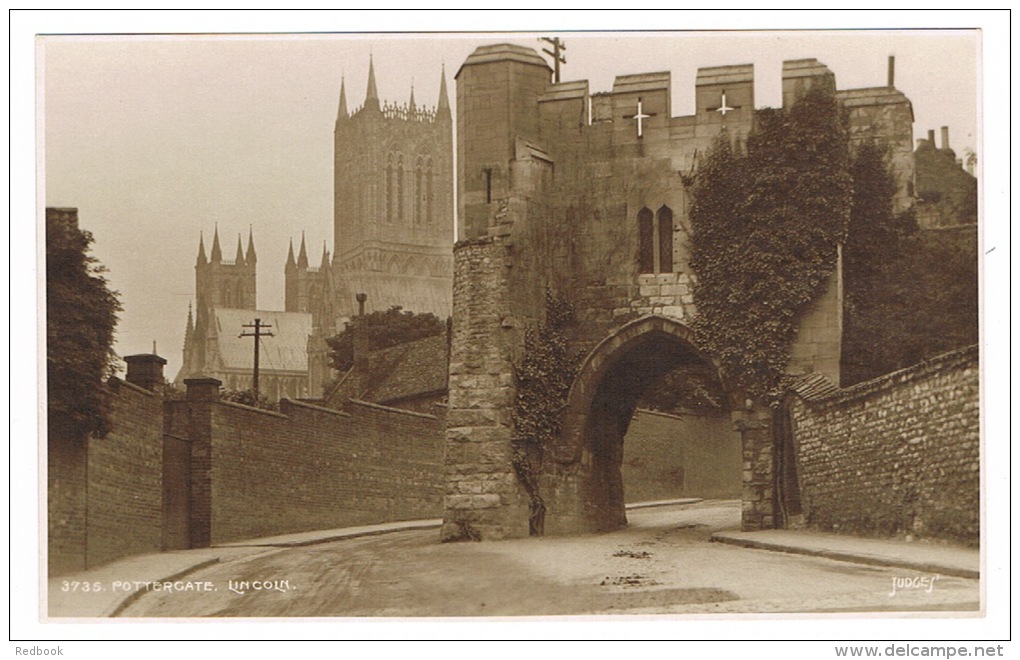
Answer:
<path fill-rule="evenodd" d="M 442 515 L 436 416 L 284 400 L 280 413 L 216 402 L 210 419 L 212 544 Z"/>

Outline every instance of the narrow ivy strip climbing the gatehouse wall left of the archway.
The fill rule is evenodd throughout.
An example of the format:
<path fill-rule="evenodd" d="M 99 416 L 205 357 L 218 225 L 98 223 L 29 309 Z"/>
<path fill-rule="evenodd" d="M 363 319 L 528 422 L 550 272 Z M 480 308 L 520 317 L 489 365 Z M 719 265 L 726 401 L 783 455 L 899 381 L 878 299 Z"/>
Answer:
<path fill-rule="evenodd" d="M 511 441 L 512 463 L 530 499 L 529 527 L 542 535 L 546 506 L 539 490 L 545 449 L 559 436 L 567 394 L 580 362 L 570 350 L 567 328 L 574 322 L 573 306 L 546 292 L 546 320 L 524 333 L 524 353 L 514 365 L 517 398 Z"/>

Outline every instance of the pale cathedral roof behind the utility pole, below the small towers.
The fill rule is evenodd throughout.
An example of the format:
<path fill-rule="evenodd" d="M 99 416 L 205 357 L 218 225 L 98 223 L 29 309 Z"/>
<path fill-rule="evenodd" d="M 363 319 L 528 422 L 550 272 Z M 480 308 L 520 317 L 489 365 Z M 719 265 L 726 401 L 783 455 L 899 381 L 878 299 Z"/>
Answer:
<path fill-rule="evenodd" d="M 308 336 L 312 333 L 312 315 L 303 312 L 253 311 L 251 309 L 212 310 L 215 323 L 220 366 L 223 369 L 252 369 L 252 338 L 241 338 L 242 326 L 255 318 L 271 325 L 272 337 L 262 340 L 259 367 L 268 371 L 307 371 Z M 249 331 L 250 332 L 250 331 Z"/>

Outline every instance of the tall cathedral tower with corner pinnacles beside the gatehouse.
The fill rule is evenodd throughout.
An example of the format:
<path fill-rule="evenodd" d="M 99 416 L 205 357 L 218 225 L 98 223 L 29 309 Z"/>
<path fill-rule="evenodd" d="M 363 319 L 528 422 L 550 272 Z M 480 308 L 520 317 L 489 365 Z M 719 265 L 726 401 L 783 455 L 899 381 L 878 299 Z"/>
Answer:
<path fill-rule="evenodd" d="M 341 83 L 334 126 L 334 255 L 337 313 L 394 305 L 451 311 L 453 117 L 446 72 L 435 109 L 381 101 L 369 61 L 364 104 L 348 112 Z"/>

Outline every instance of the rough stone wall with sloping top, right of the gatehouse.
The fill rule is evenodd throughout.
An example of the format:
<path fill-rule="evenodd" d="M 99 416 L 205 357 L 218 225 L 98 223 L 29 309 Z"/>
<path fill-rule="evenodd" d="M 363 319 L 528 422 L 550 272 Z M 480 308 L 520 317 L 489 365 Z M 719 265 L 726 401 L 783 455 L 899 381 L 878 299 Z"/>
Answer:
<path fill-rule="evenodd" d="M 793 398 L 806 524 L 976 545 L 977 346 L 814 400 Z"/>

